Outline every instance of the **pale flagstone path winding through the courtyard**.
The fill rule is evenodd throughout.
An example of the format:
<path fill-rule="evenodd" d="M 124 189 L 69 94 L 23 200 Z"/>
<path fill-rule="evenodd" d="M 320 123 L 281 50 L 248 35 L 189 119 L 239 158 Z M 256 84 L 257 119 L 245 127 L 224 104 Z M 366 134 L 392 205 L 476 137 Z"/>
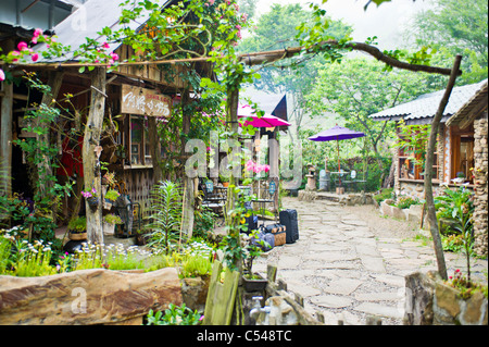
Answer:
<path fill-rule="evenodd" d="M 385 325 L 401 325 L 404 275 L 437 270 L 431 245 L 377 238 L 364 221 L 344 214 L 337 202 L 284 198 L 283 205 L 298 211 L 300 238 L 264 253 L 255 260 L 254 271 L 265 274 L 266 264 L 275 263 L 277 278 L 304 298 L 308 311 L 322 312 L 326 324 L 342 320 L 364 325 L 368 315 L 378 315 Z M 446 253 L 446 262 L 449 275 L 466 269 L 463 255 Z M 474 276 L 484 281 L 487 269 L 487 260 L 472 265 Z"/>

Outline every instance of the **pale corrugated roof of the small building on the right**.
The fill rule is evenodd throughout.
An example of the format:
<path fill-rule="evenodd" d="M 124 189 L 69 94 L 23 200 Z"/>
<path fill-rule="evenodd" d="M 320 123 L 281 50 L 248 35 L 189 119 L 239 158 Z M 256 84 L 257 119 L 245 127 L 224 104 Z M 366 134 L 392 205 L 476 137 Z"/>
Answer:
<path fill-rule="evenodd" d="M 443 116 L 450 116 L 459 111 L 485 83 L 487 83 L 487 79 L 473 85 L 453 88 L 447 108 L 444 109 Z M 425 94 L 413 101 L 401 103 L 397 107 L 371 114 L 369 117 L 376 121 L 383 121 L 390 117 L 403 117 L 405 121 L 434 117 L 443 94 L 444 89 Z"/>

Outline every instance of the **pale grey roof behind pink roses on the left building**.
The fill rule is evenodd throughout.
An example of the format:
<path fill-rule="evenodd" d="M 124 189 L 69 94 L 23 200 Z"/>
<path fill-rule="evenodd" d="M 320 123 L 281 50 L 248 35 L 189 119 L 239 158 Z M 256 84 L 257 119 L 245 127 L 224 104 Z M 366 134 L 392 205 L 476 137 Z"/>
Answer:
<path fill-rule="evenodd" d="M 172 0 L 159 0 L 158 2 L 163 8 Z M 100 36 L 98 32 L 101 32 L 105 26 L 117 30 L 122 27 L 118 23 L 123 8 L 120 7 L 121 0 L 89 0 L 80 5 L 75 12 L 67 16 L 63 22 L 53 27 L 55 35 L 58 35 L 57 41 L 64 46 L 71 46 L 72 50 L 77 49 L 80 45 L 86 44 L 86 37 L 96 39 L 98 42 L 103 44 L 105 41 L 104 36 Z M 128 4 L 134 8 L 134 4 Z M 127 8 L 126 8 L 127 9 Z M 127 9 L 130 10 L 131 8 Z M 131 21 L 129 24 L 125 24 L 133 29 L 138 29 L 142 26 L 150 15 L 150 11 L 143 10 L 138 21 Z M 114 51 L 120 42 L 110 44 L 109 52 Z M 46 49 L 46 44 L 40 44 L 35 47 L 36 51 Z M 68 54 L 59 59 L 39 59 L 38 62 L 59 62 L 74 60 L 76 57 Z"/>

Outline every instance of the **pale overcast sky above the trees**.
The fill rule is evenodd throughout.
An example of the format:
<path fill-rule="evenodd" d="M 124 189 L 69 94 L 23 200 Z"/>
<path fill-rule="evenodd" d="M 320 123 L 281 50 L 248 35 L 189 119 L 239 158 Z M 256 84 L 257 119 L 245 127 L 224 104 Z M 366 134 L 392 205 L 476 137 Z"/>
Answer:
<path fill-rule="evenodd" d="M 310 2 L 321 3 L 321 0 L 258 0 L 256 17 L 269 11 L 273 3 L 301 3 L 308 9 Z M 342 18 L 353 26 L 353 40 L 365 40 L 377 36 L 379 49 L 399 48 L 400 33 L 413 14 L 427 9 L 428 0 L 392 0 L 380 7 L 371 3 L 366 11 L 364 5 L 368 0 L 328 0 L 323 9 L 334 20 Z"/>

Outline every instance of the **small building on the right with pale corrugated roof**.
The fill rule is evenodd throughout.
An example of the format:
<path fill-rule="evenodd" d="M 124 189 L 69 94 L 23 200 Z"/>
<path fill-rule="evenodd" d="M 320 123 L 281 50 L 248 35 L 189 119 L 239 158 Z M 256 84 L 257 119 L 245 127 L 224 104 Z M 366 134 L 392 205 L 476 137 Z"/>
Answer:
<path fill-rule="evenodd" d="M 434 191 L 441 186 L 455 186 L 460 183 L 474 188 L 473 168 L 477 153 L 475 148 L 475 128 L 472 123 L 464 127 L 448 123 L 449 119 L 477 92 L 487 86 L 487 79 L 453 88 L 449 103 L 441 119 L 432 170 Z M 397 125 L 402 120 L 406 125 L 430 124 L 444 90 L 422 95 L 413 101 L 372 114 L 375 121 L 392 121 Z M 398 127 L 398 126 L 397 126 Z M 399 127 L 398 127 L 399 129 Z M 422 154 L 398 149 L 394 156 L 396 193 L 424 198 L 424 168 Z"/>

